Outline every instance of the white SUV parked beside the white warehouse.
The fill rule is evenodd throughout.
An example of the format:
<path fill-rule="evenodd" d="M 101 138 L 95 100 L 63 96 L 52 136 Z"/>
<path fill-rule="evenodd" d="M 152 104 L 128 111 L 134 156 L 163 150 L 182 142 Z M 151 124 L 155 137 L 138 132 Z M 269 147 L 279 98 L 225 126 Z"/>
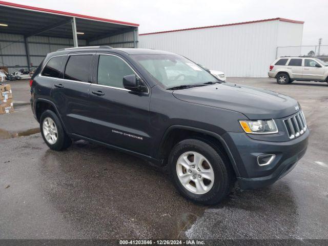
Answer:
<path fill-rule="evenodd" d="M 293 80 L 328 82 L 328 64 L 313 57 L 279 57 L 270 65 L 268 74 L 280 85 Z"/>

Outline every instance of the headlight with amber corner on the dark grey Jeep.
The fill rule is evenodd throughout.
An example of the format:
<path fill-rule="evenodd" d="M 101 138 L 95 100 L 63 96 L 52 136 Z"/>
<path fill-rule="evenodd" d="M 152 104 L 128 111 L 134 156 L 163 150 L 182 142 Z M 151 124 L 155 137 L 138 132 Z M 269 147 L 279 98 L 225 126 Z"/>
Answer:
<path fill-rule="evenodd" d="M 272 134 L 278 132 L 276 122 L 273 119 L 239 120 L 239 123 L 245 133 Z"/>

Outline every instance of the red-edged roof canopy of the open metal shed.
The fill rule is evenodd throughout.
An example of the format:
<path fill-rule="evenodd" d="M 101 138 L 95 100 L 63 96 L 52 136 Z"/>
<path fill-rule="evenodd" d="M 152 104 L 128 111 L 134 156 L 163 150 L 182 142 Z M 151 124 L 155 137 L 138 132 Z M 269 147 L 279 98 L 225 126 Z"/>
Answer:
<path fill-rule="evenodd" d="M 0 32 L 25 37 L 47 36 L 73 38 L 72 20 L 75 18 L 78 39 L 89 42 L 136 30 L 138 24 L 118 20 L 73 14 L 0 1 L 0 24 L 8 25 Z"/>

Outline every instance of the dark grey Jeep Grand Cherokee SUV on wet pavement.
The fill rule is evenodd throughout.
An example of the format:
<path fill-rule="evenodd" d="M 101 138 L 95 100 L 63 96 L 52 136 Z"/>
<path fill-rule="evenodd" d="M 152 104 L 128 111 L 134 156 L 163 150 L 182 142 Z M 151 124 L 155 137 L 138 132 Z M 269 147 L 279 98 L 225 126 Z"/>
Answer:
<path fill-rule="evenodd" d="M 243 190 L 271 185 L 308 146 L 295 99 L 222 83 L 170 52 L 59 50 L 46 56 L 30 85 L 50 149 L 85 139 L 167 166 L 177 190 L 202 204 L 221 201 L 236 180 Z"/>

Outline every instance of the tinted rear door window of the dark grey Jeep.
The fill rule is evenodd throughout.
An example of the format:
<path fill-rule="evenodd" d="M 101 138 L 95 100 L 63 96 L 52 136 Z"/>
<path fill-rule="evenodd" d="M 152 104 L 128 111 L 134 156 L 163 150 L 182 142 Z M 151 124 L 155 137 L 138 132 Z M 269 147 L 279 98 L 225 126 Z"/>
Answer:
<path fill-rule="evenodd" d="M 65 68 L 65 79 L 88 82 L 92 55 L 71 55 Z"/>

